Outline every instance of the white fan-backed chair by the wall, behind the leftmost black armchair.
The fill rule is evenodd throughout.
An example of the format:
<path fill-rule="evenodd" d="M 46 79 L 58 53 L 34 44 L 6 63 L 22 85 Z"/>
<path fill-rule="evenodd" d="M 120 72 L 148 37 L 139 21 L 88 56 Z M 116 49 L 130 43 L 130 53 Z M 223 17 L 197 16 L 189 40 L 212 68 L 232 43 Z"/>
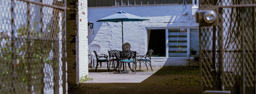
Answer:
<path fill-rule="evenodd" d="M 90 62 L 91 66 L 92 66 L 92 68 L 95 68 L 94 63 L 95 63 L 96 57 L 95 57 L 93 51 L 96 51 L 101 56 L 105 56 L 106 54 L 100 52 L 100 45 L 97 43 L 92 43 L 91 45 L 89 45 L 89 51 L 90 51 L 90 53 L 88 53 L 88 57 L 91 60 L 91 62 Z M 101 64 L 100 64 L 100 67 L 101 67 Z"/>

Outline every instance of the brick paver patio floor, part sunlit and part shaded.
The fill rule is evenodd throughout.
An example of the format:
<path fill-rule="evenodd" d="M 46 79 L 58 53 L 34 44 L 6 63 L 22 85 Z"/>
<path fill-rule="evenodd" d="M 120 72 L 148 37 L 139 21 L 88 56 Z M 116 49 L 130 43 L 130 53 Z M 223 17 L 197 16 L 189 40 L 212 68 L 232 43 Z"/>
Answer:
<path fill-rule="evenodd" d="M 138 70 L 138 68 L 137 68 Z M 182 85 L 172 82 L 173 79 L 199 79 L 198 74 L 188 73 L 187 67 L 153 67 L 152 71 L 107 72 L 99 68 L 97 72 L 89 69 L 89 78 L 79 86 L 68 88 L 68 94 L 199 94 L 200 86 Z M 112 69 L 111 69 L 112 71 Z M 175 73 L 179 72 L 179 74 Z"/>

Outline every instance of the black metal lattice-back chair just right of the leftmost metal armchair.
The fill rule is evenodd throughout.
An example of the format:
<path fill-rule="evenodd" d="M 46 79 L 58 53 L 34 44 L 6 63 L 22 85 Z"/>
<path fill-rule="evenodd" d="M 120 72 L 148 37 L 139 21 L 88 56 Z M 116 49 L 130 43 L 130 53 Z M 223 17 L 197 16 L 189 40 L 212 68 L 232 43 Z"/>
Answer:
<path fill-rule="evenodd" d="M 121 51 L 119 51 L 119 50 L 110 50 L 108 52 L 109 52 L 109 68 L 110 68 L 110 65 L 112 63 L 112 68 L 114 66 L 114 69 L 115 69 L 115 67 L 116 67 L 115 66 L 115 61 L 116 62 L 118 61 L 118 58 L 116 58 L 116 56 L 119 57 Z"/>

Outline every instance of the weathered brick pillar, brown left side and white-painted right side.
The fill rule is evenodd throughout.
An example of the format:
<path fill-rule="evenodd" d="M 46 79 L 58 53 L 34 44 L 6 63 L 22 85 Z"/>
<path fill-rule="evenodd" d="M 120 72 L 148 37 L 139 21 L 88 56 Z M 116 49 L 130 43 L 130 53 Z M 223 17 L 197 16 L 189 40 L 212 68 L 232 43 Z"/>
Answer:
<path fill-rule="evenodd" d="M 67 5 L 67 82 L 78 85 L 88 75 L 87 0 L 68 0 Z"/>

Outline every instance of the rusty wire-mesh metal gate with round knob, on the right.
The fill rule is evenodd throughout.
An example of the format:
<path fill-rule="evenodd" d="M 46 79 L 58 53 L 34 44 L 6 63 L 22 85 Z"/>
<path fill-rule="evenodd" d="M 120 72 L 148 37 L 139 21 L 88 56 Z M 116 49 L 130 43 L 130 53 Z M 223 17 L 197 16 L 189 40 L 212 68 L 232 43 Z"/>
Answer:
<path fill-rule="evenodd" d="M 201 93 L 256 93 L 255 3 L 255 0 L 200 1 L 197 22 Z"/>

